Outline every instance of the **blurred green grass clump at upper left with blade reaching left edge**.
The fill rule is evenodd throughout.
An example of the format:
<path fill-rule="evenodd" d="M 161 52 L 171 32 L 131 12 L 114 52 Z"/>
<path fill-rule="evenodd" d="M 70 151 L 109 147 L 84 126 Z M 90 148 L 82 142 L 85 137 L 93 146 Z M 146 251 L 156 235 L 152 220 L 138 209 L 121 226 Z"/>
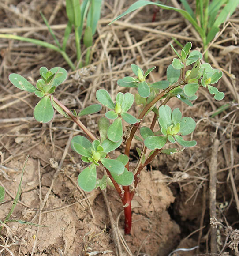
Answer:
<path fill-rule="evenodd" d="M 65 29 L 65 34 L 63 38 L 63 43 L 60 44 L 59 40 L 56 38 L 53 30 L 49 26 L 49 23 L 45 16 L 41 13 L 42 19 L 44 20 L 50 34 L 52 35 L 55 44 L 50 44 L 45 41 L 41 41 L 33 38 L 21 37 L 13 34 L 0 34 L 0 38 L 9 38 L 19 41 L 30 42 L 35 45 L 41 45 L 43 47 L 52 49 L 59 52 L 63 58 L 66 60 L 67 64 L 72 70 L 76 69 L 75 64 L 71 61 L 66 53 L 67 41 L 69 39 L 72 27 L 75 30 L 75 48 L 77 55 L 77 65 L 82 67 L 82 65 L 88 65 L 90 63 L 91 48 L 93 45 L 93 35 L 96 33 L 97 23 L 101 15 L 101 4 L 102 0 L 82 0 L 80 4 L 79 0 L 66 0 L 66 11 L 67 11 L 67 26 Z M 84 27 L 84 21 L 86 20 L 86 28 Z M 85 61 L 82 62 L 81 54 L 81 38 L 83 36 L 83 44 L 86 48 Z"/>

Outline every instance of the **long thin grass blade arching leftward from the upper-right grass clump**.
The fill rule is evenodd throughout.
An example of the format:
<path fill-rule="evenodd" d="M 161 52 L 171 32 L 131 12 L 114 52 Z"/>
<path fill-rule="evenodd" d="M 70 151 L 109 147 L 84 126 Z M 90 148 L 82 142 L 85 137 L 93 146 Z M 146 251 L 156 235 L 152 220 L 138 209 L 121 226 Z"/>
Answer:
<path fill-rule="evenodd" d="M 138 0 L 137 2 L 132 4 L 125 12 L 123 12 L 121 15 L 116 17 L 116 19 L 113 19 L 111 23 L 113 23 L 117 19 L 122 18 L 124 15 L 127 15 L 128 13 L 137 10 L 140 7 L 143 7 L 143 6 L 146 6 L 146 5 L 149 5 L 149 4 L 159 6 L 163 9 L 165 9 L 165 10 L 172 10 L 172 11 L 179 12 L 185 19 L 187 19 L 194 26 L 194 28 L 198 31 L 198 34 L 201 36 L 201 38 L 205 37 L 204 30 L 202 30 L 202 28 L 200 26 L 198 26 L 198 23 L 191 17 L 191 15 L 187 11 L 182 10 L 182 9 L 178 9 L 178 8 L 174 8 L 174 7 L 171 7 L 171 6 L 168 6 L 168 5 L 164 5 L 164 4 L 157 4 L 157 3 L 146 1 L 146 0 Z M 111 23 L 109 23 L 109 24 L 111 24 Z"/>

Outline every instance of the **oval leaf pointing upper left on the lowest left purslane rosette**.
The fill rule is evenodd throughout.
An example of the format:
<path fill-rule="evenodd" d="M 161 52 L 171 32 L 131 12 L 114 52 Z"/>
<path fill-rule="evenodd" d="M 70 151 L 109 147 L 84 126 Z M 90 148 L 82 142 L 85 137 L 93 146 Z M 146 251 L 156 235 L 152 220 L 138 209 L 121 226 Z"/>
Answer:
<path fill-rule="evenodd" d="M 85 157 L 92 157 L 91 150 L 93 149 L 92 144 L 86 137 L 77 135 L 71 139 L 71 148 Z"/>

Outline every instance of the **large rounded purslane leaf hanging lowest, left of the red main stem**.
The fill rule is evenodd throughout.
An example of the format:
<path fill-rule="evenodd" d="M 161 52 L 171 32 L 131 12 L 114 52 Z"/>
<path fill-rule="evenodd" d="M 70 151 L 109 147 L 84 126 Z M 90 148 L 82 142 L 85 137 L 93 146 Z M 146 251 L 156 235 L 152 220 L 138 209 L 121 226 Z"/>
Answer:
<path fill-rule="evenodd" d="M 94 164 L 86 167 L 77 178 L 78 185 L 84 191 L 90 192 L 96 186 L 96 166 Z"/>

